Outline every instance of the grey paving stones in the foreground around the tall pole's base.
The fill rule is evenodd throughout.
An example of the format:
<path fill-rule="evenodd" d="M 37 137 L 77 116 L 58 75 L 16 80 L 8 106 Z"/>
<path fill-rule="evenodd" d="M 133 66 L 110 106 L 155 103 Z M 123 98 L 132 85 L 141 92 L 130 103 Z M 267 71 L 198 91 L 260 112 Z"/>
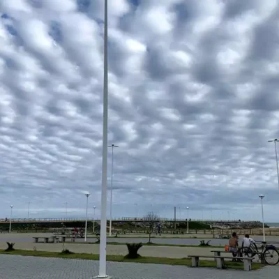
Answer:
<path fill-rule="evenodd" d="M 0 255 L 0 279 L 91 279 L 98 274 L 98 262 L 85 259 L 56 259 Z M 114 279 L 262 279 L 279 278 L 279 266 L 261 271 L 228 271 L 163 264 L 107 262 Z"/>

